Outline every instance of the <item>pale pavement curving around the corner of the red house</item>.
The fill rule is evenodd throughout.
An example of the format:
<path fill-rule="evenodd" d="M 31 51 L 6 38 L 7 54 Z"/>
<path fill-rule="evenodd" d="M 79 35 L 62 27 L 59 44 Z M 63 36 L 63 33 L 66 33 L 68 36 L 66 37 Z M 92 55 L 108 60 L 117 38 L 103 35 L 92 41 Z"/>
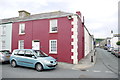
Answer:
<path fill-rule="evenodd" d="M 95 62 L 96 62 L 96 50 L 93 50 L 87 56 L 81 59 L 78 64 L 58 62 L 58 66 L 65 69 L 85 70 L 87 68 L 94 66 Z"/>

